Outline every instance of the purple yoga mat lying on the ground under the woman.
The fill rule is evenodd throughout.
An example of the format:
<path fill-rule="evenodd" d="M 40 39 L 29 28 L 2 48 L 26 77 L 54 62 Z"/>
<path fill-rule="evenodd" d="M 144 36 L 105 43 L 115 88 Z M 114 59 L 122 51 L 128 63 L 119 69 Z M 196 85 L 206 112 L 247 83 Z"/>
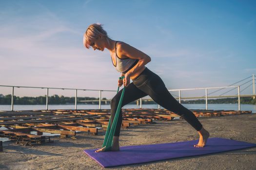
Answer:
<path fill-rule="evenodd" d="M 255 143 L 213 137 L 207 140 L 203 148 L 194 147 L 198 140 L 153 145 L 123 146 L 120 151 L 95 153 L 98 149 L 84 150 L 102 167 L 115 167 L 136 163 L 145 163 L 187 156 L 197 156 L 210 153 L 220 153 L 243 148 L 256 147 Z"/>

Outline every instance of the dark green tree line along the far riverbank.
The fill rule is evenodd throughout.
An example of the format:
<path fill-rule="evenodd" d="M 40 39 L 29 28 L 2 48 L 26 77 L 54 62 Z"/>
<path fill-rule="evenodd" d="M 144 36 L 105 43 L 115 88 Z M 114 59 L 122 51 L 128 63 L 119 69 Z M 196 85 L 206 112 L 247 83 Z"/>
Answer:
<path fill-rule="evenodd" d="M 12 96 L 9 95 L 2 95 L 0 94 L 0 104 L 11 104 Z M 78 97 L 78 104 L 98 104 L 98 101 L 94 102 L 79 102 L 79 101 L 89 101 L 89 100 L 98 100 L 99 98 L 93 97 Z M 102 100 L 107 100 L 106 98 L 102 98 Z M 209 99 L 208 104 L 217 104 L 217 103 L 238 103 L 238 98 L 221 98 L 221 99 Z M 256 99 L 252 97 L 243 97 L 240 98 L 241 104 L 255 104 Z M 39 96 L 39 97 L 19 97 L 14 96 L 14 103 L 15 104 L 46 104 L 46 96 Z M 48 104 L 73 104 L 75 103 L 75 97 L 64 97 L 59 95 L 48 96 Z M 136 104 L 137 102 L 130 102 L 129 104 Z M 204 99 L 199 100 L 181 100 L 182 104 L 204 104 Z M 109 101 L 101 101 L 101 104 L 110 104 Z M 142 104 L 156 104 L 154 101 L 142 101 Z"/>

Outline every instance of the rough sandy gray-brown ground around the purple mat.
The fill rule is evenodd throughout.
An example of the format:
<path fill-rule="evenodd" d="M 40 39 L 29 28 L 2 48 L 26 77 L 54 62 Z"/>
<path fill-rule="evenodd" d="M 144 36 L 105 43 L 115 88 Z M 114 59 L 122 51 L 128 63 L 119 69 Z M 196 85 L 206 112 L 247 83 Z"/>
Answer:
<path fill-rule="evenodd" d="M 199 118 L 210 137 L 223 137 L 256 143 L 256 114 Z M 197 132 L 185 120 L 159 121 L 121 129 L 120 146 L 168 143 L 198 139 Z M 104 133 L 98 136 L 78 133 L 77 140 L 52 137 L 54 143 L 20 146 L 4 142 L 0 153 L 1 170 L 100 170 L 84 149 L 100 148 Z M 121 170 L 256 170 L 256 148 L 178 158 L 151 163 L 119 166 Z"/>

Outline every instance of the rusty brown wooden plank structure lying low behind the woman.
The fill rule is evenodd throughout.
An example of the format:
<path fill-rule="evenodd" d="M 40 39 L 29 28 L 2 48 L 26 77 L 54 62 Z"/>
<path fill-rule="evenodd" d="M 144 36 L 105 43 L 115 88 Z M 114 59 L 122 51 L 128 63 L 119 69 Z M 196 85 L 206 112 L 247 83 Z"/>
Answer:
<path fill-rule="evenodd" d="M 252 113 L 252 111 L 235 110 L 190 110 L 197 118 Z M 166 109 L 122 109 L 122 113 L 122 128 L 155 123 L 153 121 L 155 119 L 164 121 L 182 119 Z M 23 145 L 33 145 L 51 142 L 50 136 L 43 133 L 60 134 L 60 137 L 71 136 L 71 138 L 75 138 L 77 132 L 98 135 L 98 129 L 106 130 L 109 119 L 110 109 L 0 111 L 0 127 L 7 128 L 0 130 L 0 137 L 8 137 Z"/>

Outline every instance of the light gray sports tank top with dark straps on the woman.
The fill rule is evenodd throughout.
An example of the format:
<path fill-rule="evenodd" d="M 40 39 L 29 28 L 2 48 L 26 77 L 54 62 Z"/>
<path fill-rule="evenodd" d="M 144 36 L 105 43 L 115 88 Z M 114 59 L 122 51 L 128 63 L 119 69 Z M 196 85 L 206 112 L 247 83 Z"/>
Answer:
<path fill-rule="evenodd" d="M 116 68 L 116 70 L 120 73 L 125 74 L 127 71 L 129 71 L 131 68 L 133 68 L 137 63 L 138 59 L 133 59 L 133 58 L 119 58 L 117 55 L 117 42 L 115 44 L 115 51 L 116 51 L 116 66 L 114 65 L 114 62 L 112 60 L 113 66 Z"/>

